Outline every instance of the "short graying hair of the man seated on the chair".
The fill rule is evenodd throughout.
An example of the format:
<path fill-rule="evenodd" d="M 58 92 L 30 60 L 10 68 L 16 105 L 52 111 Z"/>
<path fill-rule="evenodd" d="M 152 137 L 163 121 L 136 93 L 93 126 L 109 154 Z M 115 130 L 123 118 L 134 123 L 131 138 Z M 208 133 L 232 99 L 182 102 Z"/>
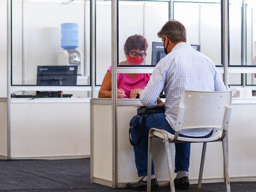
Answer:
<path fill-rule="evenodd" d="M 186 28 L 176 20 L 167 21 L 157 35 L 160 38 L 167 36 L 172 43 L 187 42 Z"/>

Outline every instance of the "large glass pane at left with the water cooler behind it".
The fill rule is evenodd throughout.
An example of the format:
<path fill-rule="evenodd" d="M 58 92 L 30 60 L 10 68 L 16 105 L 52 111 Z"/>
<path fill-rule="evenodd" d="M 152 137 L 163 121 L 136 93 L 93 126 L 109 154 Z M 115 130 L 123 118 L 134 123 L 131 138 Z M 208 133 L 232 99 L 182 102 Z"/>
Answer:
<path fill-rule="evenodd" d="M 12 85 L 37 85 L 38 66 L 77 66 L 76 85 L 90 84 L 89 7 L 89 1 L 13 1 Z"/>

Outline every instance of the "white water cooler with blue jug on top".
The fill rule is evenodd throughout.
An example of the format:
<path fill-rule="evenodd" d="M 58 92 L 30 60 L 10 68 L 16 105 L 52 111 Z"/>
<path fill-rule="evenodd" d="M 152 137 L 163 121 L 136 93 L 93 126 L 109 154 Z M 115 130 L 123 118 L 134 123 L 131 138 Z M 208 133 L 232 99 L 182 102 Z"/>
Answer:
<path fill-rule="evenodd" d="M 61 47 L 63 50 L 58 52 L 58 65 L 77 65 L 77 75 L 82 76 L 84 71 L 82 54 L 76 50 L 78 47 L 78 24 L 61 24 Z"/>

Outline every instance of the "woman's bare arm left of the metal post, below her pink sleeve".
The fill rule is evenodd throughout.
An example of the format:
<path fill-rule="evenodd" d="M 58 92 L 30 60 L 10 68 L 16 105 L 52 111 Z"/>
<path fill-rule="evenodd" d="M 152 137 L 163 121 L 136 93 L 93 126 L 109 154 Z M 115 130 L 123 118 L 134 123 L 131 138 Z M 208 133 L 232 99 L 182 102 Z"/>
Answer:
<path fill-rule="evenodd" d="M 99 98 L 111 98 L 111 73 L 107 71 L 99 91 Z"/>

